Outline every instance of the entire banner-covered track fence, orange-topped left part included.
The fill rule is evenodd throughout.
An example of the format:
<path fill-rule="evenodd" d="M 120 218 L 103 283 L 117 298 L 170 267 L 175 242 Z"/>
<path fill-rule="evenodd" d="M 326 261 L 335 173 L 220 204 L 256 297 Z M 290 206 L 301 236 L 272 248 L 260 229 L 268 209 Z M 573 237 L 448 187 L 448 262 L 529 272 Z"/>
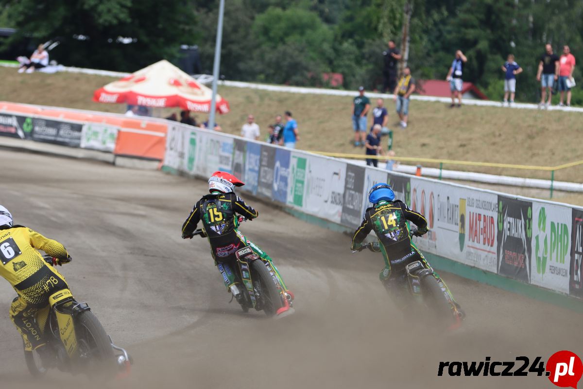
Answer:
<path fill-rule="evenodd" d="M 153 118 L 2 101 L 0 135 L 24 139 L 17 147 L 26 140 L 41 142 L 34 143 L 35 150 L 54 143 L 116 158 L 163 160 L 163 170 L 188 176 L 229 171 L 245 182 L 244 192 L 342 230 L 360 225 L 368 188 L 387 182 L 398 199 L 426 216 L 430 231 L 414 241 L 437 268 L 550 302 L 559 303 L 546 290 L 573 296 L 579 304 L 583 299 L 583 208 L 364 167 Z M 0 136 L 0 146 L 9 143 L 14 144 Z M 349 242 L 339 244 L 348 250 Z"/>

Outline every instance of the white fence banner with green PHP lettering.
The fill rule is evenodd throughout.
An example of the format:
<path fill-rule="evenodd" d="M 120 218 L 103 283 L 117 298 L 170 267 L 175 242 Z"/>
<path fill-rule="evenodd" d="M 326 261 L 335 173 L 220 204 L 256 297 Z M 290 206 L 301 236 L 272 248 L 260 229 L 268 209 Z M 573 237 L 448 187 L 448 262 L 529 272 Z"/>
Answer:
<path fill-rule="evenodd" d="M 531 283 L 569 293 L 571 208 L 532 203 Z"/>

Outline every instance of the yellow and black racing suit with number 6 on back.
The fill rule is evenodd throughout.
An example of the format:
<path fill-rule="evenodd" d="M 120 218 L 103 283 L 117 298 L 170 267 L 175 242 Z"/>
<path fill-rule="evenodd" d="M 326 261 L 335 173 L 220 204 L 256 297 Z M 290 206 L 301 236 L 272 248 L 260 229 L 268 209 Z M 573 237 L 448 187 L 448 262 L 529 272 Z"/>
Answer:
<path fill-rule="evenodd" d="M 27 351 L 45 344 L 41 328 L 47 320 L 48 297 L 68 289 L 65 278 L 37 250 L 61 260 L 69 258 L 61 243 L 27 227 L 0 227 L 0 275 L 18 293 L 10 307 L 10 319 L 22 335 Z"/>

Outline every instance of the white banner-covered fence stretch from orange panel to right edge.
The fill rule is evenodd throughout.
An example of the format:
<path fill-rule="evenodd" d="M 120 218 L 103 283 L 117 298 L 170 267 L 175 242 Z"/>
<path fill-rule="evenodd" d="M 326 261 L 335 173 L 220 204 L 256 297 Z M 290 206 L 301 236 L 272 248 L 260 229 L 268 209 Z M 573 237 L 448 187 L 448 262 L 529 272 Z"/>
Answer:
<path fill-rule="evenodd" d="M 387 182 L 396 198 L 426 216 L 430 231 L 415 244 L 430 258 L 583 299 L 582 208 L 392 173 L 181 124 L 168 126 L 162 169 L 205 178 L 229 171 L 244 181 L 243 191 L 347 229 L 360 225 L 369 206 L 368 188 Z M 348 249 L 348 242 L 342 244 Z"/>

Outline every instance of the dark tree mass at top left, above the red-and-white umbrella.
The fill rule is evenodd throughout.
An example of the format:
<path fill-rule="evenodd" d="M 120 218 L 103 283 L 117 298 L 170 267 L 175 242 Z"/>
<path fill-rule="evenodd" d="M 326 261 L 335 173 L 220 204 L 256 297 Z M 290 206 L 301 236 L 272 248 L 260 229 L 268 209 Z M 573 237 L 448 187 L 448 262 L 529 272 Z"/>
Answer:
<path fill-rule="evenodd" d="M 180 0 L 0 0 L 17 33 L 9 40 L 58 40 L 65 65 L 135 71 L 174 59 L 196 40 L 194 12 Z"/>

